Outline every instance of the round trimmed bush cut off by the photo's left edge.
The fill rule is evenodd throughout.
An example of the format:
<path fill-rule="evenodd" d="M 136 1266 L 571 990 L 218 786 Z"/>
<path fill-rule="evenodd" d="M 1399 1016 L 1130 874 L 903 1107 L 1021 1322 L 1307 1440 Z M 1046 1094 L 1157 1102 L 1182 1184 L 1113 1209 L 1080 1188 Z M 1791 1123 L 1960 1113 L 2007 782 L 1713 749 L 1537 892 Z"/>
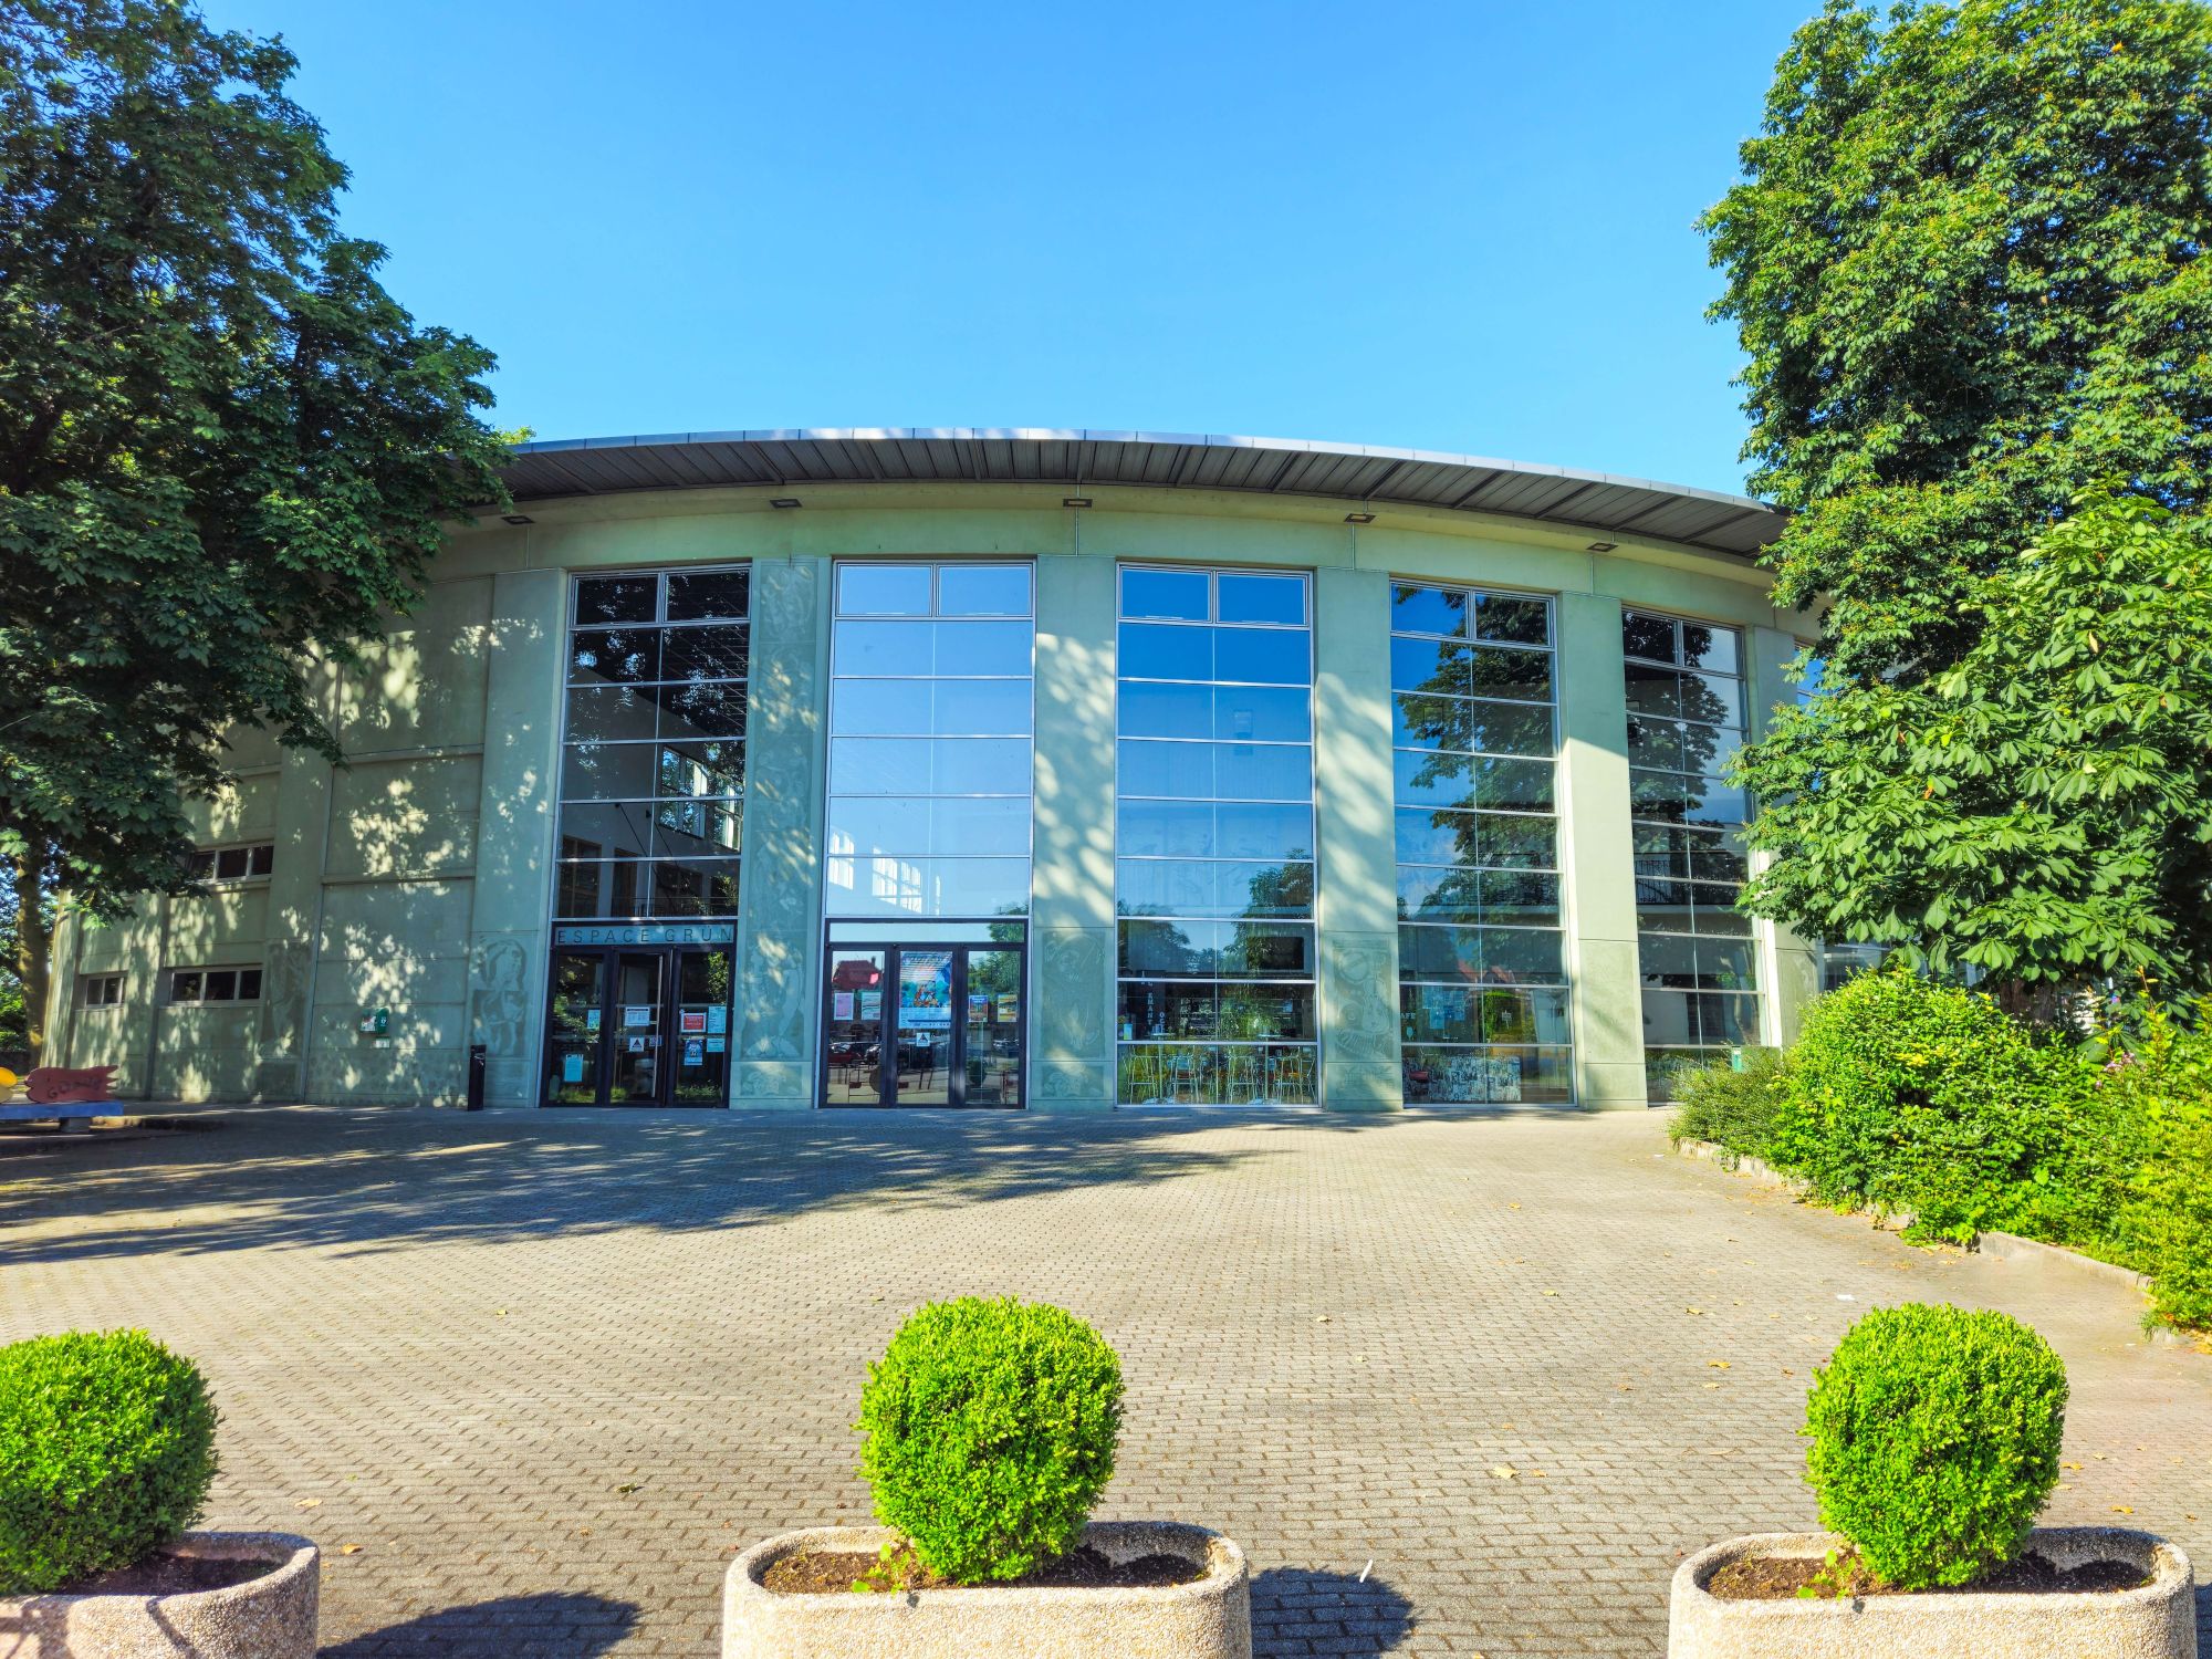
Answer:
<path fill-rule="evenodd" d="M 146 1332 L 0 1347 L 0 1595 L 153 1555 L 215 1482 L 215 1402 Z"/>

